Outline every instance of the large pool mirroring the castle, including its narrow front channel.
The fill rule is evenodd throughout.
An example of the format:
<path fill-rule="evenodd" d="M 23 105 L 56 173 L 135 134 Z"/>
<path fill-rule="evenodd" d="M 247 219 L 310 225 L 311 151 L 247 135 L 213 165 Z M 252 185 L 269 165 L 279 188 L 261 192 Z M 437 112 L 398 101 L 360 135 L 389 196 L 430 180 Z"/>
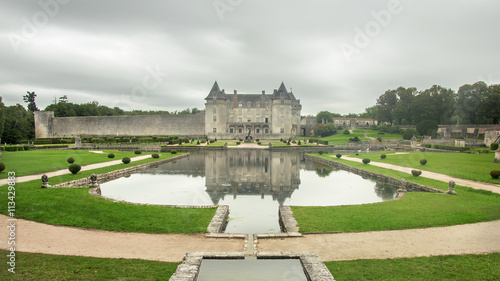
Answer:
<path fill-rule="evenodd" d="M 304 158 L 296 151 L 191 152 L 101 184 L 102 196 L 161 205 L 229 205 L 227 233 L 280 232 L 279 205 L 337 206 L 395 198 L 396 186 Z"/>

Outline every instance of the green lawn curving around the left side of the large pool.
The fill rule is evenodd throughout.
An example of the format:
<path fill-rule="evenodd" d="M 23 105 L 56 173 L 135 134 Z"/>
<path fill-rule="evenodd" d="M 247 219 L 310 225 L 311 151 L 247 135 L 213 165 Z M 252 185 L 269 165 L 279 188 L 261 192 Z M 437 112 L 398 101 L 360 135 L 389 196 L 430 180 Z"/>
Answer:
<path fill-rule="evenodd" d="M 50 184 L 90 176 L 92 173 L 123 169 L 176 155 L 162 153 L 159 159 L 148 158 L 128 165 L 118 164 L 51 177 Z M 16 218 L 73 227 L 143 233 L 203 233 L 216 208 L 174 208 L 153 205 L 117 203 L 92 196 L 88 188 L 40 188 L 40 180 L 17 183 Z M 7 185 L 0 187 L 0 202 L 7 206 Z M 7 208 L 0 209 L 7 215 Z"/>

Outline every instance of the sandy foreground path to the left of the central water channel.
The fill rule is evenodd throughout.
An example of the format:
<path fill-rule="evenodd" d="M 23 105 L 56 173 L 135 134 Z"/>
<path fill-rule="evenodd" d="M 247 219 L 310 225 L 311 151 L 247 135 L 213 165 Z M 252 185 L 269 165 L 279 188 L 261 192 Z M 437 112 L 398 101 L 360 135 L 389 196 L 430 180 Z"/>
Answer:
<path fill-rule="evenodd" d="M 10 247 L 8 218 L 0 215 L 2 249 Z M 243 239 L 209 239 L 204 234 L 111 232 L 16 221 L 16 250 L 21 252 L 180 262 L 187 252 L 241 252 L 243 247 Z"/>

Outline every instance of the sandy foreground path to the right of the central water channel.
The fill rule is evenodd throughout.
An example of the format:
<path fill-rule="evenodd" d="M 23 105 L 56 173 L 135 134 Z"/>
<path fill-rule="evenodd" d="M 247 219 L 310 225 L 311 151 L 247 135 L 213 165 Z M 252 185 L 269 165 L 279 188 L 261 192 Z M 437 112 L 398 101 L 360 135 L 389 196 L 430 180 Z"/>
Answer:
<path fill-rule="evenodd" d="M 500 252 L 500 220 L 424 229 L 260 239 L 258 251 L 313 251 L 323 261 Z"/>

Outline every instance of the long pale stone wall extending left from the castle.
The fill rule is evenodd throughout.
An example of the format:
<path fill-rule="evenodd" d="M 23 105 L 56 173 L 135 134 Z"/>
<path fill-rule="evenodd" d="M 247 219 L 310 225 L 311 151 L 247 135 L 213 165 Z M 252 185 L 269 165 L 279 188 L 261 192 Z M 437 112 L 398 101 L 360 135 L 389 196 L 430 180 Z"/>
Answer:
<path fill-rule="evenodd" d="M 35 112 L 36 138 L 158 135 L 205 136 L 205 113 L 54 117 L 51 111 Z"/>

